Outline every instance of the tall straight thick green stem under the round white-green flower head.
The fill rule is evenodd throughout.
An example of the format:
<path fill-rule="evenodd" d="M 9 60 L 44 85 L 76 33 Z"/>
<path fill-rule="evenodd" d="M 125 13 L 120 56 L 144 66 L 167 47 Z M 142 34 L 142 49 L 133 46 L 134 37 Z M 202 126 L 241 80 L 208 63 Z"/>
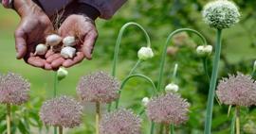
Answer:
<path fill-rule="evenodd" d="M 204 134 L 210 134 L 210 129 L 211 129 L 212 109 L 214 104 L 215 88 L 216 88 L 216 82 L 218 77 L 219 61 L 221 56 L 221 36 L 222 36 L 222 30 L 218 29 L 217 39 L 216 39 L 217 42 L 215 46 L 216 48 L 215 48 L 215 54 L 213 59 L 213 67 L 212 67 L 212 73 L 210 77 L 210 90 L 209 90 L 209 96 L 208 96 L 207 115 L 206 115 Z"/>

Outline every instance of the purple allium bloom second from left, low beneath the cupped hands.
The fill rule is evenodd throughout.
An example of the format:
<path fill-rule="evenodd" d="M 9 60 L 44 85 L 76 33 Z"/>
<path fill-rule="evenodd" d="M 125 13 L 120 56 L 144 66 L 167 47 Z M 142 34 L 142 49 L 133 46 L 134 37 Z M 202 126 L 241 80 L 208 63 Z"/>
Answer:
<path fill-rule="evenodd" d="M 42 106 L 40 118 L 47 126 L 79 126 L 82 123 L 82 105 L 67 96 L 53 98 Z"/>

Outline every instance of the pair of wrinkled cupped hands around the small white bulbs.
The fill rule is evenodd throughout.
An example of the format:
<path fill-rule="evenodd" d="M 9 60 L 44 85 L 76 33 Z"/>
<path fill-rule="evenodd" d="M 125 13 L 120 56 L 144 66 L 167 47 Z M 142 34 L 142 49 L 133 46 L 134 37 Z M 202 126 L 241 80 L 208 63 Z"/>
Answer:
<path fill-rule="evenodd" d="M 71 67 L 82 59 L 92 59 L 94 43 L 98 33 L 94 21 L 85 15 L 72 14 L 65 18 L 58 32 L 63 38 L 75 36 L 77 54 L 73 59 L 63 59 L 61 55 L 48 50 L 46 56 L 34 56 L 35 46 L 46 42 L 46 36 L 54 33 L 53 25 L 46 13 L 31 0 L 14 1 L 14 8 L 21 16 L 21 22 L 15 31 L 17 59 L 38 68 L 57 70 L 59 67 Z"/>

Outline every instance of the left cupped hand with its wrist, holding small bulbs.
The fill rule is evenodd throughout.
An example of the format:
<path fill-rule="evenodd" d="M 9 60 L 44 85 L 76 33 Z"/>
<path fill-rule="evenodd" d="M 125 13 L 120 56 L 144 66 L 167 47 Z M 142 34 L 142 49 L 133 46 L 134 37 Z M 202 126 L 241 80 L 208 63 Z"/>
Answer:
<path fill-rule="evenodd" d="M 17 59 L 25 59 L 35 67 L 52 69 L 45 57 L 33 55 L 35 46 L 45 42 L 46 35 L 53 31 L 49 18 L 30 0 L 14 1 L 14 7 L 21 16 L 21 22 L 15 31 Z M 50 54 L 48 52 L 46 56 L 49 57 Z"/>

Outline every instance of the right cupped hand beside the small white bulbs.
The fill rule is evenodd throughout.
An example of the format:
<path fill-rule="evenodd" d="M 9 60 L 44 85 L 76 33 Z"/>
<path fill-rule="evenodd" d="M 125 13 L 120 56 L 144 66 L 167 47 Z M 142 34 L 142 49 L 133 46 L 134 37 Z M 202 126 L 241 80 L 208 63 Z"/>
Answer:
<path fill-rule="evenodd" d="M 98 32 L 94 21 L 83 15 L 70 15 L 59 28 L 59 34 L 64 38 L 66 36 L 74 36 L 78 39 L 76 44 L 77 53 L 73 59 L 64 59 L 58 55 L 52 56 L 47 60 L 51 61 L 53 68 L 60 66 L 71 67 L 82 59 L 92 59 L 94 44 L 98 37 Z"/>

